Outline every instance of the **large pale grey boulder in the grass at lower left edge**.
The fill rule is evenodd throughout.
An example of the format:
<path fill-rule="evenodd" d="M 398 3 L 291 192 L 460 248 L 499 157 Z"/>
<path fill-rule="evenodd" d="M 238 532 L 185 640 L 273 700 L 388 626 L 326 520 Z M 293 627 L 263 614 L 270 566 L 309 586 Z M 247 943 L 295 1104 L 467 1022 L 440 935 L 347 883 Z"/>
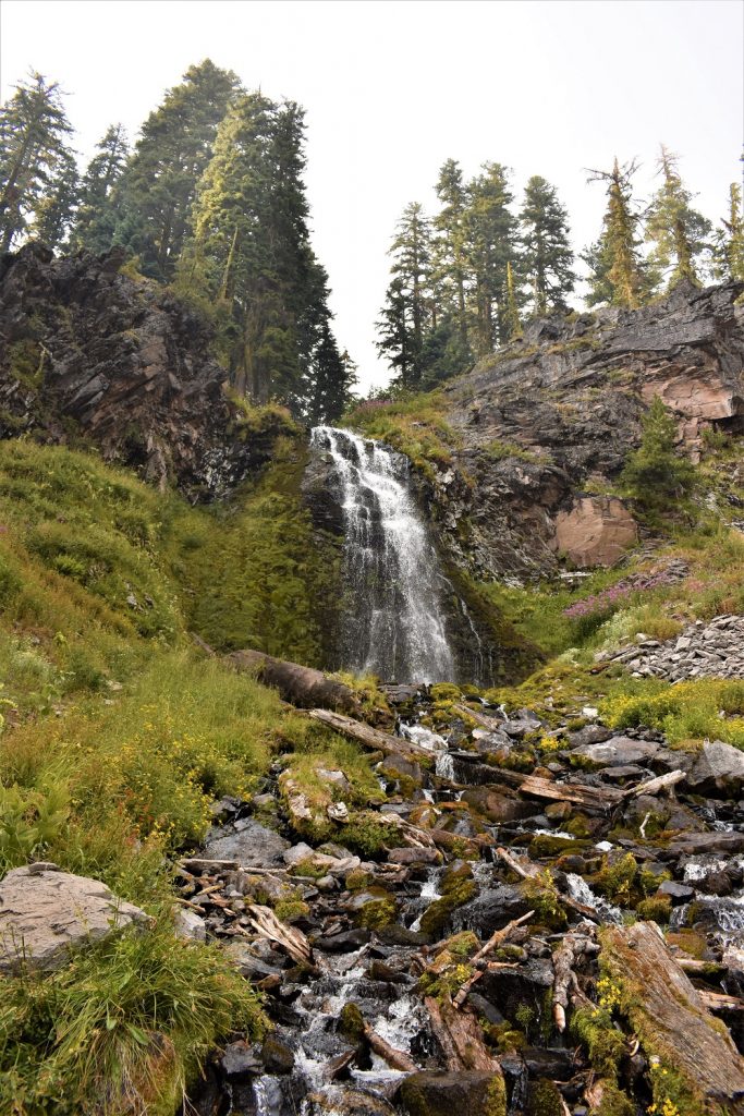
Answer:
<path fill-rule="evenodd" d="M 70 949 L 124 926 L 147 926 L 148 916 L 118 898 L 99 879 L 55 865 L 13 868 L 0 882 L 0 972 L 22 963 L 58 969 Z"/>

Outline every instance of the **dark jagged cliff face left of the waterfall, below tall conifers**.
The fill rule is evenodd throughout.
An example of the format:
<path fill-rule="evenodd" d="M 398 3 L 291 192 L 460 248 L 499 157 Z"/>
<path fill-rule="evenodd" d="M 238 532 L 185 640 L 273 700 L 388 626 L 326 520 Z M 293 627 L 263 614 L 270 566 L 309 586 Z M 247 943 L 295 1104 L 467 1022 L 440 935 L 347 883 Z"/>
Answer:
<path fill-rule="evenodd" d="M 39 244 L 0 260 L 0 436 L 81 439 L 155 483 L 219 496 L 268 460 L 276 431 L 245 436 L 209 327 L 120 263 Z"/>

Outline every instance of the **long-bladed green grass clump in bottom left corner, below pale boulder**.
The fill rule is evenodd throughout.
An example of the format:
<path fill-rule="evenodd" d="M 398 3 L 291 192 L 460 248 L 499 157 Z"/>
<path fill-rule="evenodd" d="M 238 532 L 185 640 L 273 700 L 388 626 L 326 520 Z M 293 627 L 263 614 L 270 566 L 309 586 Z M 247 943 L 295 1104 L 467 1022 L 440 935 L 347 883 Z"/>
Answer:
<path fill-rule="evenodd" d="M 54 973 L 0 978 L 0 1110 L 171 1116 L 215 1045 L 264 1029 L 250 984 L 163 916 Z"/>

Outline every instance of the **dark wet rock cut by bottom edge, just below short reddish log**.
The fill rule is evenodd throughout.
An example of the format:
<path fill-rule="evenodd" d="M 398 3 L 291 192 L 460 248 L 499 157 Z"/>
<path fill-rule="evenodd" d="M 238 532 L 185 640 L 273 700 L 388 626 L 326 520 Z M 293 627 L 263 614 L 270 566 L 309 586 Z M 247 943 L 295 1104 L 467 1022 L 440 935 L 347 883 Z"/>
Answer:
<path fill-rule="evenodd" d="M 400 1086 L 407 1116 L 503 1116 L 503 1079 L 499 1074 L 461 1071 L 412 1074 Z"/>

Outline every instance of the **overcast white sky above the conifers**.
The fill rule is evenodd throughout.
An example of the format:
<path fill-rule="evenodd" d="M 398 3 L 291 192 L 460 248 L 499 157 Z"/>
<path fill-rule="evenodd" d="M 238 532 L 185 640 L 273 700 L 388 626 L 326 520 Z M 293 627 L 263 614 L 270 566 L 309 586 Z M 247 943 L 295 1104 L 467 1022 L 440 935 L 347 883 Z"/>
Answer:
<path fill-rule="evenodd" d="M 249 88 L 307 109 L 307 184 L 341 347 L 364 386 L 384 383 L 374 323 L 386 250 L 409 201 L 433 209 L 447 157 L 486 160 L 559 187 L 574 244 L 598 233 L 583 169 L 638 156 L 653 187 L 658 142 L 714 220 L 740 174 L 740 0 L 1 0 L 2 98 L 30 67 L 69 93 L 77 147 L 107 125 L 132 137 L 164 89 L 210 57 Z"/>

